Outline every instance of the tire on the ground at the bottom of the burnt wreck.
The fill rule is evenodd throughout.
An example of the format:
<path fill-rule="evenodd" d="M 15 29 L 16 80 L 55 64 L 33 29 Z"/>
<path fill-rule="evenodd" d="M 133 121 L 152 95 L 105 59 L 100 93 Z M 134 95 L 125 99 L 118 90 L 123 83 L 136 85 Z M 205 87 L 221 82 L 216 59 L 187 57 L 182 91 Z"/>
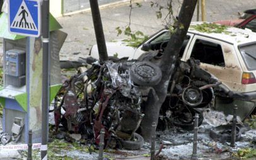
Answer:
<path fill-rule="evenodd" d="M 135 140 L 121 140 L 122 147 L 127 150 L 139 150 L 143 146 L 144 139 L 141 135 L 134 133 Z"/>

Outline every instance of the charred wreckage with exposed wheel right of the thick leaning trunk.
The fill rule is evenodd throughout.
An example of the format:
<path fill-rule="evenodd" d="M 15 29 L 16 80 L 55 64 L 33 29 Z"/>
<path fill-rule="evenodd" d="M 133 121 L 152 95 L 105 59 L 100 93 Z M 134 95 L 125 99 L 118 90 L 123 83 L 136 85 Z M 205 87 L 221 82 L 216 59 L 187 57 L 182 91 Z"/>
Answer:
<path fill-rule="evenodd" d="M 198 60 L 179 60 L 170 79 L 165 102 L 161 106 L 158 129 L 168 129 L 175 125 L 184 130 L 194 129 L 195 112 L 204 110 L 214 97 L 214 90 L 219 81 L 200 68 Z M 170 110 L 172 117 L 166 111 Z M 199 115 L 199 125 L 202 123 Z"/>

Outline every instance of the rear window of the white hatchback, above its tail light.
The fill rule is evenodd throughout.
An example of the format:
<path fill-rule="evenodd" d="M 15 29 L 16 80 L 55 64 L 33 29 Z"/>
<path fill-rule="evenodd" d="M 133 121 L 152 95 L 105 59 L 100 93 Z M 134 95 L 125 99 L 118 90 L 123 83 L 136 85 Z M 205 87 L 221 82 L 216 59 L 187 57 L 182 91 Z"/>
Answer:
<path fill-rule="evenodd" d="M 256 43 L 241 45 L 239 47 L 241 56 L 245 60 L 245 65 L 249 71 L 256 70 Z"/>

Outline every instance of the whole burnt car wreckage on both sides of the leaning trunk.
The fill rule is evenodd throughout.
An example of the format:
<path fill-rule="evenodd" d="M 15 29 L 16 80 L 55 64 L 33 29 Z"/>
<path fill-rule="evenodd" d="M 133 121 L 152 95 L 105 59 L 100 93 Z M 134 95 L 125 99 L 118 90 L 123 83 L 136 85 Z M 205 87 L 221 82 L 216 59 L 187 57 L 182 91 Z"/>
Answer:
<path fill-rule="evenodd" d="M 144 140 L 136 131 L 147 109 L 149 90 L 161 80 L 160 68 L 149 61 L 87 61 L 91 61 L 90 69 L 67 80 L 55 98 L 56 130 L 61 124 L 99 144 L 100 130 L 105 129 L 107 147 L 139 149 Z M 161 107 L 158 129 L 171 125 L 193 129 L 195 113 L 200 113 L 201 124 L 200 108 L 211 103 L 212 87 L 218 84 L 200 69 L 197 60 L 179 61 Z"/>

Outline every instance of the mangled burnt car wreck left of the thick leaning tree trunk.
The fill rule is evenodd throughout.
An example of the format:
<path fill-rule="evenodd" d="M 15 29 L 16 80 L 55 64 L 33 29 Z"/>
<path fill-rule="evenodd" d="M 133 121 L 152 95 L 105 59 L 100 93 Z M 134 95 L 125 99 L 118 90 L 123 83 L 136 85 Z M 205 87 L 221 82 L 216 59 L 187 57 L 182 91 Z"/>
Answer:
<path fill-rule="evenodd" d="M 137 71 L 139 74 L 135 74 Z M 138 75 L 146 76 L 144 85 L 134 83 L 141 78 Z M 85 81 L 84 77 L 87 77 Z M 160 69 L 149 62 L 94 62 L 88 71 L 64 83 L 61 96 L 56 97 L 61 100 L 55 101 L 56 127 L 62 123 L 69 132 L 94 138 L 96 144 L 100 130 L 105 129 L 108 146 L 139 149 L 143 137 L 135 131 L 144 116 L 141 86 L 157 84 L 160 79 Z M 64 115 L 61 115 L 61 108 L 65 110 Z M 136 139 L 137 146 L 129 148 L 132 139 Z"/>

